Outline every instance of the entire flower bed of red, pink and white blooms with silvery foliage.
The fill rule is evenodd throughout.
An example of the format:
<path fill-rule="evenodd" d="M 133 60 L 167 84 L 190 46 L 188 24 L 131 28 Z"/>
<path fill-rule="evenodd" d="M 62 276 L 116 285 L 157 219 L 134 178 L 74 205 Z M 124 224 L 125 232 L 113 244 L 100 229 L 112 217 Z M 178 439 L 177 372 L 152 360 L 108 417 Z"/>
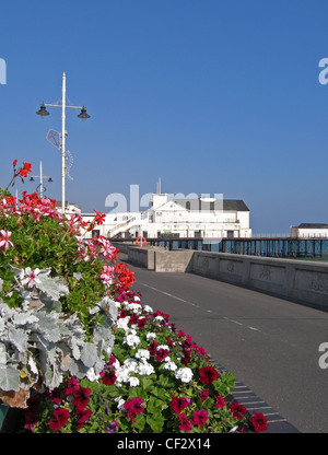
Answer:
<path fill-rule="evenodd" d="M 31 165 L 15 168 L 25 177 Z M 235 378 L 142 304 L 133 273 L 93 223 L 56 201 L 2 190 L 0 398 L 34 433 L 226 433 L 267 430 L 232 399 Z"/>

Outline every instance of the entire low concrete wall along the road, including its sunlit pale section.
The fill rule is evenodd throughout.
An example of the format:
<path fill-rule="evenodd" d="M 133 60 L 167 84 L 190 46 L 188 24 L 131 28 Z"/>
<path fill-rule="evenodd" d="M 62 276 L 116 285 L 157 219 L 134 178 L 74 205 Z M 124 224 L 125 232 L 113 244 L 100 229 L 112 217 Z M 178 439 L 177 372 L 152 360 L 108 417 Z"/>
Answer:
<path fill-rule="evenodd" d="M 116 245 L 121 252 L 122 245 Z M 128 260 L 157 272 L 191 272 L 328 311 L 328 264 L 190 249 L 125 246 Z"/>

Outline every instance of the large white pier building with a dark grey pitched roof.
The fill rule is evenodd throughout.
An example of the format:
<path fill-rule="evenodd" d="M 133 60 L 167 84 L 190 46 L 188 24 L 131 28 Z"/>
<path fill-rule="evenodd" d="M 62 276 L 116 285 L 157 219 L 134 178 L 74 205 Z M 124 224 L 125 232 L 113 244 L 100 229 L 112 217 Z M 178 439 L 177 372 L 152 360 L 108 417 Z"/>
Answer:
<path fill-rule="evenodd" d="M 138 237 L 250 237 L 249 209 L 242 200 L 214 198 L 172 199 L 154 194 L 143 212 L 108 213 L 104 224 L 90 235 L 108 238 Z M 85 221 L 91 217 L 82 213 Z"/>

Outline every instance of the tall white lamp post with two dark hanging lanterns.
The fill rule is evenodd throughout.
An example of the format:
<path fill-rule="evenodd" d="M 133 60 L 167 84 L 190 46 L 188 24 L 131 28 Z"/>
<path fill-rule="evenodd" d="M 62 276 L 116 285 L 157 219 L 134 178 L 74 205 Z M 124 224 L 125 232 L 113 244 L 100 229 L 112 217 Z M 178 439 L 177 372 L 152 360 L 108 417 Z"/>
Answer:
<path fill-rule="evenodd" d="M 39 110 L 37 110 L 37 115 L 39 115 L 42 118 L 45 118 L 49 115 L 49 113 L 46 109 L 46 106 L 48 107 L 61 107 L 61 141 L 60 141 L 60 148 L 61 148 L 61 213 L 65 214 L 66 210 L 66 109 L 67 107 L 73 108 L 73 109 L 81 109 L 81 113 L 78 115 L 78 117 L 81 120 L 86 120 L 90 118 L 90 115 L 86 114 L 86 109 L 84 106 L 71 106 L 67 105 L 66 103 L 66 73 L 62 73 L 62 90 L 61 90 L 61 104 L 45 104 L 43 103 L 40 105 Z"/>

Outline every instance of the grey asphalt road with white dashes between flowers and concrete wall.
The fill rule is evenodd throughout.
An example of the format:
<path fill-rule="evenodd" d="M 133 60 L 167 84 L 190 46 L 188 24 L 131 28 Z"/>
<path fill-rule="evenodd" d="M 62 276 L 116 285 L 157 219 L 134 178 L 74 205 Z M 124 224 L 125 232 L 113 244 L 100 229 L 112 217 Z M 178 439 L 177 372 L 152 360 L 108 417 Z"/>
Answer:
<path fill-rule="evenodd" d="M 191 273 L 129 268 L 143 304 L 168 313 L 298 431 L 328 432 L 328 369 L 319 366 L 328 313 Z"/>

